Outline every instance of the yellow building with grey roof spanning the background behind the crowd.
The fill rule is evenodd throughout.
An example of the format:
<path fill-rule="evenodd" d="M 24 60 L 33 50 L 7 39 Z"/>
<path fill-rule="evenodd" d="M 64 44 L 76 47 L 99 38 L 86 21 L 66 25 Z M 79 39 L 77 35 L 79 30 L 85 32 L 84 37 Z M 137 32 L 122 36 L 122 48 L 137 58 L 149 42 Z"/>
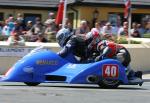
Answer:
<path fill-rule="evenodd" d="M 40 17 L 45 21 L 49 12 L 57 13 L 60 0 L 0 0 L 0 21 L 9 15 L 14 17 L 21 13 L 26 21 Z M 141 22 L 150 16 L 149 0 L 131 0 L 132 21 Z M 110 21 L 115 25 L 117 18 L 124 21 L 123 0 L 67 0 L 67 17 L 76 28 L 82 19 L 93 26 L 95 21 Z"/>

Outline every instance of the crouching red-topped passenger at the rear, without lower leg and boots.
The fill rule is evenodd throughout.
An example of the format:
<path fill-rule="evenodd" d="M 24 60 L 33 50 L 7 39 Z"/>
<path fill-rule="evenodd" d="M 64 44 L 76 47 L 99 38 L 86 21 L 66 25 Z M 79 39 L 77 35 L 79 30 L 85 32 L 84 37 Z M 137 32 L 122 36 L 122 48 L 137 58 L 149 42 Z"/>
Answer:
<path fill-rule="evenodd" d="M 112 41 L 103 40 L 99 42 L 97 50 L 101 52 L 96 58 L 97 61 L 103 58 L 118 59 L 125 67 L 128 67 L 131 62 L 131 56 L 128 50 L 122 45 L 116 44 Z"/>

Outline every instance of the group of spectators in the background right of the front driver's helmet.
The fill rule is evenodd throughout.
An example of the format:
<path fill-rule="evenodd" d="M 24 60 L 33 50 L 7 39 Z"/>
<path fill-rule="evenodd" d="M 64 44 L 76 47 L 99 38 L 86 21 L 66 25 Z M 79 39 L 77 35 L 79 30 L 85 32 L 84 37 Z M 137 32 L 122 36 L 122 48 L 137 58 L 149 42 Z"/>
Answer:
<path fill-rule="evenodd" d="M 144 34 L 150 34 L 150 18 L 143 19 L 141 24 L 133 22 L 131 25 L 130 35 L 134 38 L 143 38 Z M 98 32 L 101 37 L 117 37 L 121 36 L 129 37 L 128 22 L 117 22 L 117 25 L 112 25 L 108 21 L 95 22 L 95 26 L 90 29 L 89 23 L 86 20 L 82 20 L 80 27 L 75 30 L 75 34 L 86 34 L 88 32 Z"/>

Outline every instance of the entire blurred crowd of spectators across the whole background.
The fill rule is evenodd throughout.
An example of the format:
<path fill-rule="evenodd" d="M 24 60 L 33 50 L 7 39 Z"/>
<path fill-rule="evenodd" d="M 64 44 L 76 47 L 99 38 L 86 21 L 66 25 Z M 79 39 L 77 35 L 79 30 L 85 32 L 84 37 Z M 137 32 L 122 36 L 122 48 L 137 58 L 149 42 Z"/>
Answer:
<path fill-rule="evenodd" d="M 90 22 L 81 20 L 80 26 L 74 30 L 70 21 L 66 19 L 65 26 L 70 30 L 74 30 L 76 35 L 85 35 L 91 31 L 98 32 L 106 38 L 129 36 L 128 22 L 121 24 L 121 21 L 118 21 L 117 25 L 112 25 L 108 21 L 101 21 L 95 22 L 94 24 L 94 27 L 90 27 Z M 45 22 L 42 22 L 41 18 L 37 17 L 34 24 L 33 21 L 27 21 L 25 23 L 24 17 L 19 13 L 16 18 L 10 15 L 4 23 L 0 22 L 0 35 L 8 36 L 8 42 L 14 45 L 23 45 L 25 41 L 55 42 L 55 35 L 61 27 L 61 24 L 59 26 L 55 25 L 54 13 L 52 12 L 49 13 L 48 19 Z M 133 22 L 130 33 L 132 37 L 138 38 L 150 33 L 150 18 L 143 19 L 141 24 Z"/>

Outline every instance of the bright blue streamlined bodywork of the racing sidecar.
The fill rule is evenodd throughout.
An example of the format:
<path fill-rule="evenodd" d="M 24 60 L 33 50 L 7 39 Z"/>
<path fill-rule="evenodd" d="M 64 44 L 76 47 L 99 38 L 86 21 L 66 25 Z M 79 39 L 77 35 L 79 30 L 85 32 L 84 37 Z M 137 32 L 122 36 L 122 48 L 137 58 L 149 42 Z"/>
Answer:
<path fill-rule="evenodd" d="M 105 59 L 99 62 L 79 64 L 71 54 L 66 58 L 61 58 L 50 50 L 33 50 L 15 63 L 1 78 L 1 81 L 94 84 L 89 82 L 88 77 L 93 75 L 97 76 L 99 80 L 104 79 L 104 65 L 116 65 L 118 68 L 117 75 L 107 79 L 119 80 L 122 84 L 128 84 L 126 68 L 117 60 Z M 107 69 L 109 70 L 109 68 Z M 112 73 L 116 74 L 116 71 L 112 71 Z M 95 82 L 95 84 L 97 83 Z"/>

